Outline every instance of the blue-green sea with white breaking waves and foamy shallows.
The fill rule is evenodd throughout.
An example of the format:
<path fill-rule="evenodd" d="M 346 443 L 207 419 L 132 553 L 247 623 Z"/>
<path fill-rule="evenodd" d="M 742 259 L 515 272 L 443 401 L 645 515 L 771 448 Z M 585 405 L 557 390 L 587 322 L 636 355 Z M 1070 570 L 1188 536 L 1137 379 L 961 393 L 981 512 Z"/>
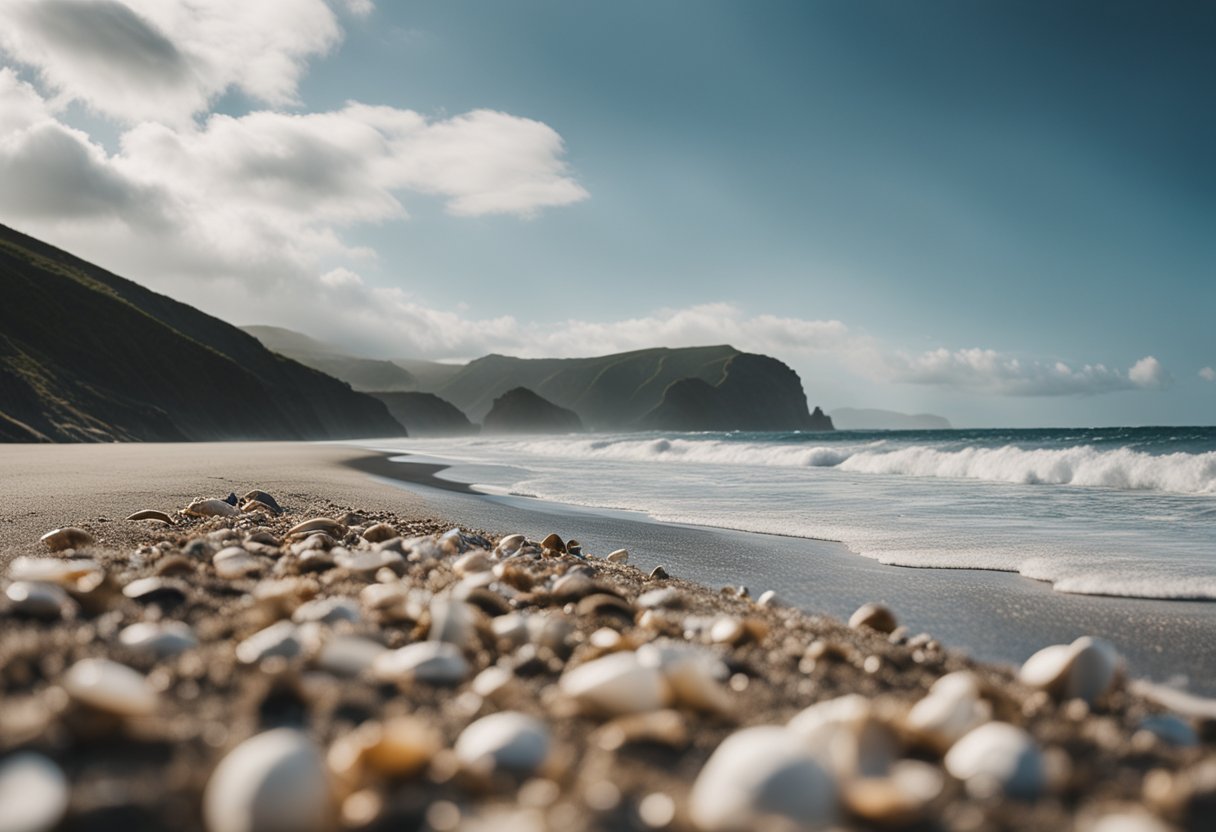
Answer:
<path fill-rule="evenodd" d="M 839 540 L 1064 592 L 1216 598 L 1216 428 L 405 439 L 489 493 Z"/>

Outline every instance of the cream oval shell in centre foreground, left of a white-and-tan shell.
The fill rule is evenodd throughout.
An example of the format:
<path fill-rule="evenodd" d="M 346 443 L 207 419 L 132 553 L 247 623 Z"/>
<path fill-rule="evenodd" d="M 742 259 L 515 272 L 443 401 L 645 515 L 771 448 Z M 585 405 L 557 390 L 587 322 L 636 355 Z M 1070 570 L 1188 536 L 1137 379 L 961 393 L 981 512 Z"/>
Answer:
<path fill-rule="evenodd" d="M 562 674 L 558 686 L 585 709 L 606 714 L 658 710 L 671 702 L 671 687 L 659 668 L 621 652 Z"/>

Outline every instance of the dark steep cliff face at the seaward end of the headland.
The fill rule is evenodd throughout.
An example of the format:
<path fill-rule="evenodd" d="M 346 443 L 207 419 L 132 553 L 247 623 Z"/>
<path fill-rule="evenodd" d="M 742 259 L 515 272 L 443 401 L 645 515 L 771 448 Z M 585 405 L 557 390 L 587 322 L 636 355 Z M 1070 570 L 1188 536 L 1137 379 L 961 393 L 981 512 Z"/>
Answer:
<path fill-rule="evenodd" d="M 638 422 L 651 431 L 831 431 L 818 407 L 806 409 L 798 373 L 767 355 L 738 353 L 716 384 L 683 378 Z"/>

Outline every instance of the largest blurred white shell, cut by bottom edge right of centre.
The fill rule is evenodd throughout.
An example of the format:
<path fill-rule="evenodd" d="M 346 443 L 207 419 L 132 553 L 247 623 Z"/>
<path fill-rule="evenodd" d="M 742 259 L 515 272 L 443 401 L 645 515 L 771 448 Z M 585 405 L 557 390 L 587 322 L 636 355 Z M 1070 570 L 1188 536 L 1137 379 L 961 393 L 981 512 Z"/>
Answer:
<path fill-rule="evenodd" d="M 688 797 L 688 814 L 702 832 L 747 832 L 773 820 L 815 828 L 835 822 L 838 813 L 833 776 L 798 736 L 772 726 L 722 741 Z"/>

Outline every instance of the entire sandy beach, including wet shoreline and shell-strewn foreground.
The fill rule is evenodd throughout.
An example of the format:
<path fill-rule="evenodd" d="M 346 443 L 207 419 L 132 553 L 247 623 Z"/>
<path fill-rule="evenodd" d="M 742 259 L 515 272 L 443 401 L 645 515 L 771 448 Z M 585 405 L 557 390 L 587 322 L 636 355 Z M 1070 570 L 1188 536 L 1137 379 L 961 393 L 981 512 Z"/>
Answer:
<path fill-rule="evenodd" d="M 6 573 L 66 563 L 51 528 L 92 538 L 38 579 L 67 581 L 56 611 L 27 584 L 4 613 L 0 803 L 26 777 L 58 813 L 29 828 L 1156 831 L 1216 797 L 1212 719 L 1108 648 L 968 657 L 1088 633 L 1209 684 L 1203 605 L 486 497 L 349 445 L 17 445 L 0 471 Z M 250 489 L 286 513 L 180 513 Z M 173 525 L 124 519 L 148 508 Z"/>

